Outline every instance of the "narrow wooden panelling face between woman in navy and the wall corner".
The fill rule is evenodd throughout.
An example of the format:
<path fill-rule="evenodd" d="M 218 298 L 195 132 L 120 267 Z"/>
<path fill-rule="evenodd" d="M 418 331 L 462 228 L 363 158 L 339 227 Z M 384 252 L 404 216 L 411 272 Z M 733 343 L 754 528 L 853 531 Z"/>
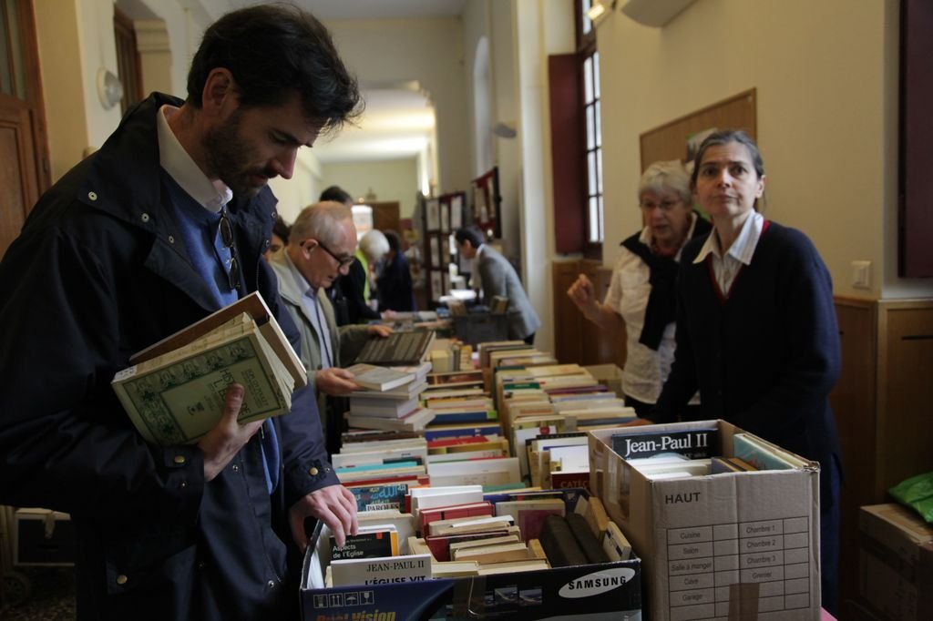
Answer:
<path fill-rule="evenodd" d="M 840 600 L 858 598 L 858 507 L 875 492 L 875 302 L 836 298 L 842 373 L 829 395 L 842 444 Z"/>

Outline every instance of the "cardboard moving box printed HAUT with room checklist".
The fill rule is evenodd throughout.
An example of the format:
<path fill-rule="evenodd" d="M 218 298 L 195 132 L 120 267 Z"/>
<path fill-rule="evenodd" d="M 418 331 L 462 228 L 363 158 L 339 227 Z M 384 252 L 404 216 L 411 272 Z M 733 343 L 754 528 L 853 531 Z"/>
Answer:
<path fill-rule="evenodd" d="M 642 559 L 652 621 L 819 618 L 817 462 L 764 443 L 761 459 L 784 469 L 711 475 L 703 461 L 662 463 L 661 453 L 733 457 L 740 433 L 725 421 L 591 432 L 591 489 Z M 614 441 L 660 463 L 638 470 Z"/>

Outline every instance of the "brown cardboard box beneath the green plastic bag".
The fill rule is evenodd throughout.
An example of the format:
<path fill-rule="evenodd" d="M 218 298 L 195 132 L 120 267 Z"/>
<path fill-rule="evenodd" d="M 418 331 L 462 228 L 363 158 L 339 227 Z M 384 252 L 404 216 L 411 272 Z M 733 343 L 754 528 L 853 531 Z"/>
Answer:
<path fill-rule="evenodd" d="M 933 619 L 933 525 L 900 504 L 859 512 L 859 592 L 884 619 Z"/>

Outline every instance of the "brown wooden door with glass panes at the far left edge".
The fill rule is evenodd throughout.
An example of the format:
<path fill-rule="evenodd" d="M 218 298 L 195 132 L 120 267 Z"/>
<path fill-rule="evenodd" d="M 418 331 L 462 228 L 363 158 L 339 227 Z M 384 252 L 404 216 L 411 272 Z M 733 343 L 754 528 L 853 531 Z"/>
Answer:
<path fill-rule="evenodd" d="M 12 10 L 9 10 L 12 8 Z M 35 46 L 31 1 L 0 11 L 3 40 L 12 53 L 0 56 L 0 257 L 20 234 L 26 215 L 49 186 L 49 152 Z"/>

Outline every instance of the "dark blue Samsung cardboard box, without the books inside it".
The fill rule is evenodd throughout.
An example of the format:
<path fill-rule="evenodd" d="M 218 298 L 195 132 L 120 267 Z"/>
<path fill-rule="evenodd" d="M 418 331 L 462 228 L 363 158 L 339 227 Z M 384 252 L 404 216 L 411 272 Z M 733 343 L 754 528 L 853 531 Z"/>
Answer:
<path fill-rule="evenodd" d="M 640 621 L 638 559 L 482 576 L 326 587 L 327 529 L 315 532 L 301 573 L 303 621 L 592 619 Z M 403 552 L 405 550 L 402 550 Z M 407 557 L 394 557 L 405 562 Z M 378 580 L 378 578 L 377 578 Z"/>

